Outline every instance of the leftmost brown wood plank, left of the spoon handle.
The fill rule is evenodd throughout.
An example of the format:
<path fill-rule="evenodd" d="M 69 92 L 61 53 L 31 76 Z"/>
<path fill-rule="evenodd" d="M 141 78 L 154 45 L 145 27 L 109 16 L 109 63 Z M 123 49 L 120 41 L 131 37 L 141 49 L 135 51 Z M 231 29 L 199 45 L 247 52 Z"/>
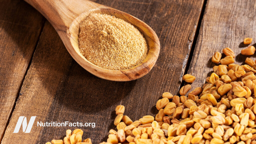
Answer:
<path fill-rule="evenodd" d="M 24 1 L 0 1 L 0 141 L 45 22 Z"/>

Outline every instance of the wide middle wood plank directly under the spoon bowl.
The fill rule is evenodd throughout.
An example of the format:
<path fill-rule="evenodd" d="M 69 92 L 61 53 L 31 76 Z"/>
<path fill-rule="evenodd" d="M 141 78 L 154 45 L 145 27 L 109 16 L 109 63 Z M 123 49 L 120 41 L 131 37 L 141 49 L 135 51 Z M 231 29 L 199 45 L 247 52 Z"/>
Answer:
<path fill-rule="evenodd" d="M 45 143 L 63 139 L 66 129 L 81 128 L 93 143 L 106 141 L 114 128 L 114 109 L 124 105 L 125 115 L 137 120 L 155 115 L 162 92 L 178 93 L 180 78 L 198 24 L 203 1 L 107 0 L 95 1 L 132 14 L 158 35 L 161 52 L 146 76 L 128 82 L 97 78 L 79 66 L 68 54 L 54 28 L 47 22 L 25 77 L 3 143 Z M 37 127 L 30 133 L 12 133 L 19 116 L 37 116 L 42 122 L 95 122 L 96 127 Z M 31 139 L 33 138 L 33 139 Z"/>

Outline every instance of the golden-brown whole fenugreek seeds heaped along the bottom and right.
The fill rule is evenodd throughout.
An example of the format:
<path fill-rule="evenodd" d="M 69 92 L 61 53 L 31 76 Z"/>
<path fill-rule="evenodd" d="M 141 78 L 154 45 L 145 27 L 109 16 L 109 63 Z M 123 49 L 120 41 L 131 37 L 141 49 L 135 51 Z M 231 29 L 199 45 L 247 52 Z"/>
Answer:
<path fill-rule="evenodd" d="M 250 44 L 252 39 L 244 39 L 244 44 Z M 243 49 L 243 55 L 252 55 L 253 46 Z M 124 106 L 117 106 L 114 125 L 107 142 L 101 144 L 256 144 L 256 64 L 247 58 L 245 65 L 233 64 L 234 52 L 230 48 L 223 49 L 225 58 L 216 52 L 212 56 L 214 73 L 207 77 L 206 84 L 201 88 L 185 94 L 191 85 L 183 86 L 179 96 L 164 92 L 162 99 L 156 103 L 159 110 L 155 116 L 144 116 L 132 121 L 124 116 Z M 195 77 L 189 74 L 183 80 L 193 83 Z M 65 144 L 76 144 L 71 137 L 77 137 L 76 132 L 67 132 Z M 91 141 L 81 142 L 79 135 L 77 144 L 91 144 Z M 59 140 L 58 144 L 63 144 Z M 52 141 L 57 144 L 56 141 Z M 48 144 L 48 143 L 47 143 Z"/>

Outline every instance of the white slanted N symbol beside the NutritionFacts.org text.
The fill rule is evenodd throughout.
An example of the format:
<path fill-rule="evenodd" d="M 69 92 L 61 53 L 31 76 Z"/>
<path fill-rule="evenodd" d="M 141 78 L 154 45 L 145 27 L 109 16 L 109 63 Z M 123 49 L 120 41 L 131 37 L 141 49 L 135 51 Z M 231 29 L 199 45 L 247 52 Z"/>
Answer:
<path fill-rule="evenodd" d="M 18 121 L 17 121 L 17 124 L 15 126 L 15 129 L 13 131 L 13 133 L 18 133 L 19 132 L 19 129 L 22 125 L 22 130 L 24 133 L 29 133 L 32 129 L 32 126 L 34 124 L 34 121 L 36 119 L 36 116 L 32 116 L 27 124 L 27 117 L 25 116 L 20 116 Z"/>

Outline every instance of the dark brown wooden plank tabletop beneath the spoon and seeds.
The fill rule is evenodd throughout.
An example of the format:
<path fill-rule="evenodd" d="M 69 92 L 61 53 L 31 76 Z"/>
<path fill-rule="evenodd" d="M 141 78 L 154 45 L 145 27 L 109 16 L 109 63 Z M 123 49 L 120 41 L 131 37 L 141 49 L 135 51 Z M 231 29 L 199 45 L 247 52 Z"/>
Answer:
<path fill-rule="evenodd" d="M 178 95 L 186 73 L 196 76 L 192 89 L 204 84 L 212 71 L 210 57 L 232 48 L 236 63 L 241 42 L 255 34 L 256 1 L 236 0 L 93 0 L 127 12 L 151 26 L 161 51 L 146 76 L 128 82 L 103 80 L 79 66 L 49 22 L 19 0 L 0 1 L 0 141 L 45 143 L 63 139 L 66 129 L 81 128 L 83 139 L 106 141 L 115 128 L 115 107 L 138 120 L 157 113 L 163 92 Z M 255 40 L 253 41 L 255 42 Z M 255 55 L 252 56 L 255 59 Z M 191 89 L 191 90 L 192 90 Z M 37 116 L 42 122 L 95 122 L 96 127 L 22 128 L 18 118 Z"/>

